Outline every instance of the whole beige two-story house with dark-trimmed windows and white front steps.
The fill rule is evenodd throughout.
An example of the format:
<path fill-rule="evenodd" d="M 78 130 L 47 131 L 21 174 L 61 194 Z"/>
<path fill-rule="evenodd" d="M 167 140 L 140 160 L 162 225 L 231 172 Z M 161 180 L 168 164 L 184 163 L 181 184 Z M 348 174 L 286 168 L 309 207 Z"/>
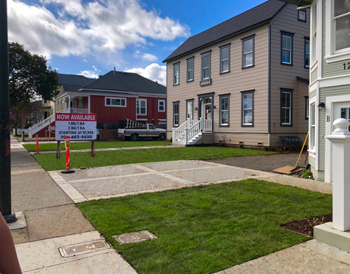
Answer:
<path fill-rule="evenodd" d="M 309 9 L 266 1 L 190 37 L 163 62 L 167 136 L 174 143 L 304 141 Z"/>

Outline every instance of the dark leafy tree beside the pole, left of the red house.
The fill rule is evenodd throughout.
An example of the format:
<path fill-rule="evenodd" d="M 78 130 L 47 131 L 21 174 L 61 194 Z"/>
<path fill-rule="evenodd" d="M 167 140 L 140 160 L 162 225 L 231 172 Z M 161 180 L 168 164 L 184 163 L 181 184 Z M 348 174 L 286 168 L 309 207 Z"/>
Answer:
<path fill-rule="evenodd" d="M 8 63 L 10 107 L 20 110 L 29 102 L 57 95 L 58 75 L 45 57 L 31 54 L 19 43 L 8 43 Z"/>

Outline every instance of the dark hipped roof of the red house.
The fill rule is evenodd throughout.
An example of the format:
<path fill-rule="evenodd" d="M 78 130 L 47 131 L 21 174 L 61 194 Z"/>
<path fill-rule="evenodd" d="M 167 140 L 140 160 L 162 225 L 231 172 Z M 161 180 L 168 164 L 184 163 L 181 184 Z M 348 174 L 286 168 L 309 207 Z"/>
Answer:
<path fill-rule="evenodd" d="M 115 90 L 162 95 L 167 93 L 167 88 L 164 85 L 155 83 L 139 74 L 122 71 L 110 71 L 92 83 L 85 85 L 83 90 Z"/>

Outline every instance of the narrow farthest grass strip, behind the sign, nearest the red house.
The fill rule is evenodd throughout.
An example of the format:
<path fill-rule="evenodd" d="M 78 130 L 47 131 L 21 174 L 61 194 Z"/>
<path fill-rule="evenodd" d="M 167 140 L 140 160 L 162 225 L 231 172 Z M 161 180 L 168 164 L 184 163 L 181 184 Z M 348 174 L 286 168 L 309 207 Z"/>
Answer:
<path fill-rule="evenodd" d="M 134 146 L 169 146 L 171 142 L 167 141 L 141 141 L 141 142 L 94 142 L 95 149 L 112 149 L 112 148 L 122 148 L 122 147 L 134 147 Z M 24 144 L 25 149 L 29 152 L 36 152 L 36 144 Z M 52 142 L 52 144 L 40 144 L 39 151 L 56 151 L 57 142 Z M 91 149 L 91 142 L 71 142 L 71 149 Z M 61 150 L 64 152 L 64 141 L 61 142 Z"/>

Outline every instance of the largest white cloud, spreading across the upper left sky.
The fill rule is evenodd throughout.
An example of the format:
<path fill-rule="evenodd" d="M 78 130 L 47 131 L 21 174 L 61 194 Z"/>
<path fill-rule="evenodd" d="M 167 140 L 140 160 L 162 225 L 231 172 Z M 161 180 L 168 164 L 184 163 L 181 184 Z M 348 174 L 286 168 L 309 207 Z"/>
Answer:
<path fill-rule="evenodd" d="M 48 4 L 58 16 L 45 8 Z M 172 41 L 190 35 L 188 26 L 143 5 L 138 0 L 41 0 L 41 6 L 30 6 L 8 0 L 8 39 L 50 58 L 116 52 L 130 44 L 146 45 L 150 38 Z"/>

